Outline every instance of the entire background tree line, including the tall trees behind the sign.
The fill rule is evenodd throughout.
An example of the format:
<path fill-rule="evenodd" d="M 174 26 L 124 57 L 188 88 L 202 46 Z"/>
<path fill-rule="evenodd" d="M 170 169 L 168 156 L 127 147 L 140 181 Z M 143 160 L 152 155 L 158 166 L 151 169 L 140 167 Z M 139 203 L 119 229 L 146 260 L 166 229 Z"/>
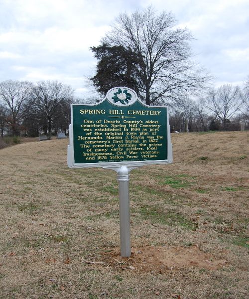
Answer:
<path fill-rule="evenodd" d="M 192 39 L 188 29 L 177 28 L 171 12 L 149 6 L 121 13 L 101 44 L 90 48 L 98 61 L 90 82 L 101 98 L 126 86 L 146 105 L 170 107 L 170 125 L 179 132 L 186 123 L 193 132 L 239 130 L 242 123 L 248 128 L 249 79 L 244 88 L 210 88 L 212 77 L 195 61 Z M 68 134 L 75 102 L 72 87 L 58 81 L 0 82 L 0 136 Z"/>

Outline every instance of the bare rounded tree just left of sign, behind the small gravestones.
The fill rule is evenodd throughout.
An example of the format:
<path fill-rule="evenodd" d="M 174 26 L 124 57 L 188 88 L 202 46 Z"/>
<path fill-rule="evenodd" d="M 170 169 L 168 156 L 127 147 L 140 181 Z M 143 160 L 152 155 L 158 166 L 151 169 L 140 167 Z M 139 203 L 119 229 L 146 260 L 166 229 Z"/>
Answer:
<path fill-rule="evenodd" d="M 52 122 L 61 116 L 64 104 L 72 95 L 72 87 L 58 81 L 40 81 L 33 86 L 29 107 L 32 113 L 38 114 L 39 119 L 45 123 L 49 138 L 51 138 Z"/>

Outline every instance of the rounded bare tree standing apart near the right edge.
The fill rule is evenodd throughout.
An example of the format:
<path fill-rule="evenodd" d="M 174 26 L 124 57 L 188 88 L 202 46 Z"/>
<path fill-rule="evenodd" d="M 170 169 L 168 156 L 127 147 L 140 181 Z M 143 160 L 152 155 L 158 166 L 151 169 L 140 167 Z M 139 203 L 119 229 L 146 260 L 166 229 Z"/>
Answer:
<path fill-rule="evenodd" d="M 223 129 L 243 105 L 243 96 L 238 86 L 224 84 L 218 89 L 210 89 L 207 96 L 207 108 L 222 122 Z"/>

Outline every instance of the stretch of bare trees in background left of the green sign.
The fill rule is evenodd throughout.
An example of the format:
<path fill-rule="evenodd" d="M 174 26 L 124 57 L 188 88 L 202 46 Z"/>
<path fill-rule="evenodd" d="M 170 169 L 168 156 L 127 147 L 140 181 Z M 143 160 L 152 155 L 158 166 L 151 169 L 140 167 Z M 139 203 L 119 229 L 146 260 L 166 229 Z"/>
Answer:
<path fill-rule="evenodd" d="M 0 135 L 49 138 L 68 134 L 71 86 L 58 81 L 5 80 L 0 82 Z"/>

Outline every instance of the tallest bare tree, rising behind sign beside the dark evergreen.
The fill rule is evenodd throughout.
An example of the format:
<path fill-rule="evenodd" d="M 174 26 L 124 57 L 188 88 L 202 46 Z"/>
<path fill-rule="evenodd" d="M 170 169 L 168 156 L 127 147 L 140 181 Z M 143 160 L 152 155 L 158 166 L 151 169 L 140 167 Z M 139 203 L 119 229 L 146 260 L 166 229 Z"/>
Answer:
<path fill-rule="evenodd" d="M 189 42 L 193 39 L 185 28 L 176 28 L 172 14 L 157 14 L 149 6 L 130 16 L 121 13 L 111 31 L 102 40 L 111 46 L 121 45 L 137 56 L 136 76 L 139 96 L 147 105 L 169 104 L 186 94 L 203 90 L 208 75 L 193 62 Z"/>

